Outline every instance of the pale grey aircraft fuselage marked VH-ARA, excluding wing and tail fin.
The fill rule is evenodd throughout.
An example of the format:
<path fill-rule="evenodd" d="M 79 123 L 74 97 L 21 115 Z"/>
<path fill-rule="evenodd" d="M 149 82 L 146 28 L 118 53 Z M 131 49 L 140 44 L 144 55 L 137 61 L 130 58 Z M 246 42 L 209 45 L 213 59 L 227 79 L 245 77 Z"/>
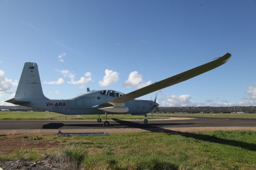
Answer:
<path fill-rule="evenodd" d="M 93 107 L 114 98 L 116 97 L 102 95 L 100 91 L 90 91 L 66 100 L 37 99 L 31 101 L 30 103 L 26 103 L 24 106 L 65 115 L 104 114 L 104 111 Z M 125 102 L 124 105 L 125 107 L 129 108 L 127 113 L 132 114 L 145 114 L 154 109 L 154 101 L 149 100 L 133 99 Z M 118 114 L 112 112 L 108 113 Z"/>

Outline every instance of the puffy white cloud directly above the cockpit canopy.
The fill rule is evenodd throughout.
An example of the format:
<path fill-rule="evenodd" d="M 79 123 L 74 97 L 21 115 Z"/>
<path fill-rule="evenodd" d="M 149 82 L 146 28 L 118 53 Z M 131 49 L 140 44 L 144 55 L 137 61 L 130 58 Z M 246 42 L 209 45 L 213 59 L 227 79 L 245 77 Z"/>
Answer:
<path fill-rule="evenodd" d="M 103 80 L 99 81 L 99 85 L 103 87 L 110 86 L 116 83 L 118 80 L 119 80 L 118 72 L 106 69 L 105 76 L 103 77 Z"/>

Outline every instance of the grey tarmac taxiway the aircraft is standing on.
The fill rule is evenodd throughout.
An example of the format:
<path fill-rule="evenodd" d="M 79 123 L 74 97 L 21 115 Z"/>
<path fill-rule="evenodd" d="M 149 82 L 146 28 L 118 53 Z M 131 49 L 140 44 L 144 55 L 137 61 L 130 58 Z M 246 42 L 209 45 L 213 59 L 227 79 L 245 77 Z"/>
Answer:
<path fill-rule="evenodd" d="M 191 117 L 192 118 L 192 117 Z M 194 127 L 256 127 L 256 119 L 244 118 L 212 118 L 193 117 L 193 119 L 175 120 L 170 119 L 154 120 L 149 119 L 147 124 L 143 120 L 120 120 L 108 119 L 109 126 L 103 126 L 97 120 L 1 120 L 0 130 L 13 129 L 123 129 L 141 128 L 194 128 Z"/>

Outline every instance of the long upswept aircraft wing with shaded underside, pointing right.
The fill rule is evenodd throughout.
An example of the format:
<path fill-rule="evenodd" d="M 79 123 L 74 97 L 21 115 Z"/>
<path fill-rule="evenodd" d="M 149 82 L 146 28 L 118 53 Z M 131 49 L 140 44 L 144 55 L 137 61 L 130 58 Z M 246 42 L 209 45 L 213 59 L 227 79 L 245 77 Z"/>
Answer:
<path fill-rule="evenodd" d="M 144 96 L 148 93 L 152 93 L 154 91 L 158 91 L 165 87 L 169 87 L 171 85 L 175 85 L 182 81 L 191 79 L 192 77 L 196 77 L 197 75 L 200 75 L 202 73 L 210 71 L 216 67 L 219 67 L 220 65 L 226 63 L 230 59 L 230 57 L 231 57 L 231 54 L 226 53 L 225 55 L 223 55 L 222 57 L 219 57 L 218 59 L 216 59 L 214 61 L 211 61 L 204 65 L 200 65 L 198 67 L 195 67 L 194 69 L 190 69 L 188 71 L 174 75 L 174 76 L 164 79 L 162 81 L 158 81 L 156 83 L 153 83 L 153 84 L 143 87 L 141 89 L 132 91 L 130 93 L 127 93 L 125 95 L 122 95 L 120 97 L 112 99 L 112 100 L 108 101 L 108 103 L 124 103 L 126 101 L 130 101 L 132 99 L 136 99 L 138 97 Z"/>

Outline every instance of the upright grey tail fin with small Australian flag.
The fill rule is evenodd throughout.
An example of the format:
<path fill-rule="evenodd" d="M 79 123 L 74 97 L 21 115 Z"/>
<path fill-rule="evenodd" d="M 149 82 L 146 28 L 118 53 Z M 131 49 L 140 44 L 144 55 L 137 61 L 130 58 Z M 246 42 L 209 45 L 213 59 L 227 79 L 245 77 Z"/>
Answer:
<path fill-rule="evenodd" d="M 47 99 L 42 91 L 38 66 L 36 63 L 24 64 L 15 99 Z"/>

